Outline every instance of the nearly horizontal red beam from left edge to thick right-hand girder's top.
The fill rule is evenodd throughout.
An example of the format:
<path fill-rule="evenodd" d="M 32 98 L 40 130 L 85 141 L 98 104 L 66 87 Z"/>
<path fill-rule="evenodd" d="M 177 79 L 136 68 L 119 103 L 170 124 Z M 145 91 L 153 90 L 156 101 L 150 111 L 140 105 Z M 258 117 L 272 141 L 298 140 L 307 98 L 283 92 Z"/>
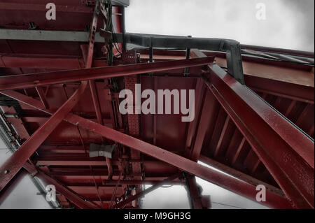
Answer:
<path fill-rule="evenodd" d="M 92 69 L 76 69 L 65 71 L 54 71 L 46 73 L 32 73 L 22 75 L 8 75 L 0 77 L 0 90 L 22 89 L 42 85 L 52 85 L 63 82 L 74 82 L 81 80 L 96 80 L 102 78 L 114 78 L 125 75 L 140 73 L 154 73 L 186 67 L 203 66 L 211 64 L 214 57 L 197 59 L 181 59 L 168 62 L 155 62 L 146 64 L 130 64 L 123 66 L 106 66 Z"/>

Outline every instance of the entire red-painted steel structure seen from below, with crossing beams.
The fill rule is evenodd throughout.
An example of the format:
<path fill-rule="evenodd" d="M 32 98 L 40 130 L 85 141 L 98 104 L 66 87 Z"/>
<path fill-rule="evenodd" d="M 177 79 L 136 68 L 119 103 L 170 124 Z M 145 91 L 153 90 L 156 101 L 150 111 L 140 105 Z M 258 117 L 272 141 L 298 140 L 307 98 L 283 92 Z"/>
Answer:
<path fill-rule="evenodd" d="M 314 208 L 314 53 L 241 45 L 244 86 L 225 72 L 225 52 L 192 49 L 191 58 L 204 58 L 185 59 L 186 50 L 127 51 L 124 41 L 94 43 L 102 27 L 94 1 L 55 3 L 55 21 L 45 20 L 45 5 L 37 1 L 0 3 L 4 29 L 29 29 L 25 21 L 52 31 L 85 31 L 90 25 L 87 43 L 0 40 L 0 91 L 6 96 L 0 99 L 1 120 L 10 143 L 22 144 L 0 169 L 0 189 L 23 167 L 56 185 L 62 207 L 137 208 L 134 199 L 148 192 L 141 185 L 158 187 L 180 169 L 192 174 L 194 208 L 204 208 L 194 176 L 253 201 L 255 187 L 265 185 L 263 204 L 272 208 Z M 100 9 L 99 16 L 106 17 Z M 124 10 L 119 3 L 112 10 L 113 31 L 124 36 Z M 103 36 L 111 43 L 109 32 Z M 108 66 L 109 48 L 115 66 Z M 279 61 L 260 54 L 277 54 Z M 184 76 L 186 67 L 190 73 Z M 89 80 L 90 91 L 82 90 L 80 101 L 66 106 L 82 80 Z M 155 92 L 195 89 L 195 120 L 121 115 L 118 92 L 133 89 L 135 82 Z M 90 143 L 107 142 L 117 146 L 111 163 L 88 157 Z M 15 167 L 6 171 L 10 166 Z M 172 183 L 183 185 L 183 180 Z"/>

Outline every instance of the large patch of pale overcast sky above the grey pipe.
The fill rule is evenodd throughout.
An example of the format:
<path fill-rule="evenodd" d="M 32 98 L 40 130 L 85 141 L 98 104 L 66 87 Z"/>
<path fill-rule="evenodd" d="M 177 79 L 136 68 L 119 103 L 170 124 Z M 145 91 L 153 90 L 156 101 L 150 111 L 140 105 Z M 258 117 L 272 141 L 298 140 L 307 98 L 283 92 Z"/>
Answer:
<path fill-rule="evenodd" d="M 266 20 L 256 19 L 257 3 Z M 314 52 L 314 0 L 130 0 L 126 29 Z"/>

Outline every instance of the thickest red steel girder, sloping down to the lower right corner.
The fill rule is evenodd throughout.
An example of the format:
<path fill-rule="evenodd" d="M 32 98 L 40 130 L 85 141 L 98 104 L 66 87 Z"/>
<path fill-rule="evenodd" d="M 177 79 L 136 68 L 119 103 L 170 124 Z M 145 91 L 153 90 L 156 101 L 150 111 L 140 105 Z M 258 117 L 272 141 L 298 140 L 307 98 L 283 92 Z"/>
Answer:
<path fill-rule="evenodd" d="M 314 141 L 216 64 L 206 83 L 296 208 L 314 208 Z"/>

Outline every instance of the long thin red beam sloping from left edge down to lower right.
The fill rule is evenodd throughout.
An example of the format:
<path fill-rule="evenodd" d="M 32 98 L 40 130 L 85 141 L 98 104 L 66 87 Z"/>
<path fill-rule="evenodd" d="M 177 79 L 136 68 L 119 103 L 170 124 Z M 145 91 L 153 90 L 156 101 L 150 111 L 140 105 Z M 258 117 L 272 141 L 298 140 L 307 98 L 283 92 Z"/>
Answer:
<path fill-rule="evenodd" d="M 38 110 L 42 110 L 45 113 L 52 114 L 52 111 L 45 110 L 41 101 L 37 101 L 36 99 L 32 99 L 29 96 L 25 96 L 24 94 L 20 94 L 14 91 L 5 91 L 1 92 L 2 94 L 9 96 L 13 99 L 20 101 L 21 103 L 25 103 L 28 106 L 36 108 Z M 145 154 L 150 155 L 151 157 L 155 157 L 160 159 L 161 161 L 165 161 L 172 166 L 176 166 L 187 173 L 192 175 L 196 175 L 204 180 L 209 182 L 213 182 L 219 187 L 223 187 L 237 194 L 241 194 L 242 196 L 247 197 L 248 199 L 252 199 L 255 201 L 255 194 L 257 193 L 255 186 L 249 184 L 248 182 L 244 182 L 243 180 L 232 177 L 231 175 L 226 175 L 221 171 L 216 171 L 215 169 L 207 168 L 206 166 L 202 166 L 201 164 L 197 164 L 195 161 L 191 161 L 190 159 L 186 159 L 184 157 L 179 156 L 178 154 L 174 154 L 173 152 L 169 152 L 167 150 L 163 150 L 158 148 L 155 145 L 151 145 L 144 141 L 141 141 L 132 136 L 128 136 L 114 129 L 110 129 L 109 127 L 102 126 L 101 124 L 92 122 L 90 120 L 86 120 L 83 117 L 79 117 L 78 115 L 73 115 L 69 113 L 64 120 L 71 124 L 78 125 L 87 129 L 89 131 L 93 131 L 101 136 L 109 138 L 112 141 L 116 141 L 123 145 L 126 145 L 130 148 L 138 150 L 139 152 L 143 152 Z M 283 196 L 279 196 L 279 194 L 269 193 L 269 199 L 267 199 L 265 205 L 272 208 L 288 208 L 290 204 L 288 200 L 283 198 Z"/>

